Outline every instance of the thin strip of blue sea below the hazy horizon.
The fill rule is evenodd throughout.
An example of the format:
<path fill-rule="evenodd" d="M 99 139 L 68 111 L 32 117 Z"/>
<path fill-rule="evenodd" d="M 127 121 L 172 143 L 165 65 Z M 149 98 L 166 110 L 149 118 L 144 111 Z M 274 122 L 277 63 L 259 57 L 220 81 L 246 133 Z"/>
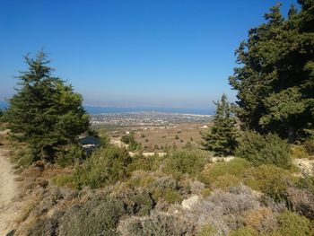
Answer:
<path fill-rule="evenodd" d="M 0 109 L 5 109 L 9 105 L 6 101 L 0 101 Z M 195 115 L 213 115 L 212 109 L 196 109 L 196 108 L 162 108 L 162 107 L 96 107 L 84 106 L 84 108 L 92 115 L 101 113 L 126 113 L 126 112 L 141 112 L 141 111 L 156 111 L 164 113 L 179 113 L 179 114 L 195 114 Z"/>

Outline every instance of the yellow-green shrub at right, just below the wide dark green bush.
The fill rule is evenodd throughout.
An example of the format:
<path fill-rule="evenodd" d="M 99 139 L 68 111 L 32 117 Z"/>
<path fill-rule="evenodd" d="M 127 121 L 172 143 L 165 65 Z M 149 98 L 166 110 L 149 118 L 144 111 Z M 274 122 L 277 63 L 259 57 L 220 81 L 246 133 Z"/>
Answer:
<path fill-rule="evenodd" d="M 275 201 L 285 199 L 287 188 L 291 187 L 295 178 L 287 171 L 273 165 L 261 165 L 245 171 L 244 182 L 249 187 L 262 191 Z"/>

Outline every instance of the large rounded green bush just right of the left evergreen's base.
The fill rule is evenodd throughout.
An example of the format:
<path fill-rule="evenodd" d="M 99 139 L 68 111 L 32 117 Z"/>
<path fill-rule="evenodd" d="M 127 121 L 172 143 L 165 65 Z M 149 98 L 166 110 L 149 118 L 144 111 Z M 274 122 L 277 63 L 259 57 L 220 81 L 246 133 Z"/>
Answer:
<path fill-rule="evenodd" d="M 76 188 L 100 188 L 112 184 L 126 177 L 126 168 L 130 162 L 131 157 L 126 149 L 116 146 L 100 148 L 82 165 L 75 167 L 74 185 Z"/>

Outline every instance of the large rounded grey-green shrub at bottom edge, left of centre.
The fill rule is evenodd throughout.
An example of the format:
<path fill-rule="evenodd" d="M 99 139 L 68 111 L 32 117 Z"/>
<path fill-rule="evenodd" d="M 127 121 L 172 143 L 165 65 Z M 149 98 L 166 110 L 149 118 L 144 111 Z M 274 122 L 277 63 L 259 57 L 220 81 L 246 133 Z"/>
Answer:
<path fill-rule="evenodd" d="M 72 206 L 60 219 L 59 235 L 113 236 L 119 218 L 125 214 L 122 201 L 112 197 L 93 197 L 84 205 Z"/>

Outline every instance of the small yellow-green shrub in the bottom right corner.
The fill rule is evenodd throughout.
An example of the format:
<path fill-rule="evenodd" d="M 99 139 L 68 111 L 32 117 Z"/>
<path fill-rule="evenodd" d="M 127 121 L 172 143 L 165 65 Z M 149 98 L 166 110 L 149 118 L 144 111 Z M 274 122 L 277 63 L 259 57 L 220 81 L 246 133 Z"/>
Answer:
<path fill-rule="evenodd" d="M 289 211 L 278 216 L 279 230 L 284 236 L 310 235 L 310 220 Z"/>

